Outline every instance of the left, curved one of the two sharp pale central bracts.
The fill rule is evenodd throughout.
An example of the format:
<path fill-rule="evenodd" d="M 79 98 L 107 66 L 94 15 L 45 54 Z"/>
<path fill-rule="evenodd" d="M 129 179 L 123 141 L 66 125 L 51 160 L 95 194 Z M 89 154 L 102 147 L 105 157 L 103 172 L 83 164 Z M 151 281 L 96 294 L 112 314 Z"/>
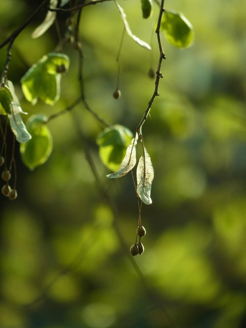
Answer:
<path fill-rule="evenodd" d="M 126 175 L 136 164 L 136 145 L 138 141 L 138 134 L 132 139 L 130 145 L 126 149 L 126 154 L 123 158 L 121 166 L 116 173 L 107 175 L 107 178 L 120 178 Z"/>

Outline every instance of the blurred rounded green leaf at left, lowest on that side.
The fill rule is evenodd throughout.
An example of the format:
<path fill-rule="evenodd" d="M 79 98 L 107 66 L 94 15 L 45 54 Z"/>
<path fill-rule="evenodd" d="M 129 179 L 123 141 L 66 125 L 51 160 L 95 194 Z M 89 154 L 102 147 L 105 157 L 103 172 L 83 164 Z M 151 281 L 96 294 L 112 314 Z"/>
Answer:
<path fill-rule="evenodd" d="M 46 126 L 45 115 L 33 115 L 27 121 L 27 130 L 31 134 L 31 140 L 21 144 L 20 152 L 23 163 L 33 170 L 49 158 L 53 143 L 49 129 Z"/>

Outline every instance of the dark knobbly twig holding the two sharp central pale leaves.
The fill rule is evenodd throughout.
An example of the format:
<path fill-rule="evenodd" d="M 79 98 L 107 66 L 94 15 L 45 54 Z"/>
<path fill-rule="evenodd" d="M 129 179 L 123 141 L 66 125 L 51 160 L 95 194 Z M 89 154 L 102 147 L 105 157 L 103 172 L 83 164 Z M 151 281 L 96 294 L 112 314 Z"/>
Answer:
<path fill-rule="evenodd" d="M 161 23 L 162 14 L 165 11 L 164 2 L 165 2 L 165 0 L 161 0 L 160 11 L 159 11 L 159 16 L 158 16 L 158 21 L 157 21 L 157 27 L 156 27 L 156 30 L 155 30 L 155 33 L 157 35 L 157 41 L 158 41 L 160 56 L 159 56 L 158 67 L 157 67 L 157 70 L 156 70 L 154 93 L 153 93 L 153 95 L 152 95 L 152 97 L 149 101 L 149 104 L 148 104 L 146 110 L 145 110 L 144 116 L 141 119 L 141 121 L 139 122 L 139 124 L 137 126 L 137 129 L 136 129 L 140 139 L 142 137 L 142 126 L 143 126 L 144 122 L 146 121 L 148 115 L 150 114 L 151 106 L 154 102 L 155 97 L 159 95 L 159 93 L 158 93 L 159 81 L 160 81 L 160 78 L 163 77 L 163 75 L 161 74 L 160 69 L 161 69 L 162 60 L 165 59 L 165 54 L 164 54 L 163 49 L 162 49 L 161 38 L 160 38 L 160 23 Z"/>

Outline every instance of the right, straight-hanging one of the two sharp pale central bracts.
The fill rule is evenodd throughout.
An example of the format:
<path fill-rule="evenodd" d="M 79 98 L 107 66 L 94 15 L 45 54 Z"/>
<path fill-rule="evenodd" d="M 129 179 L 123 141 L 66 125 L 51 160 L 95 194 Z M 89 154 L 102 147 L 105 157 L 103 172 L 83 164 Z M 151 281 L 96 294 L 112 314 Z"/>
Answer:
<path fill-rule="evenodd" d="M 143 203 L 152 204 L 151 186 L 154 179 L 154 169 L 150 155 L 144 147 L 144 154 L 140 157 L 137 166 L 137 192 Z"/>

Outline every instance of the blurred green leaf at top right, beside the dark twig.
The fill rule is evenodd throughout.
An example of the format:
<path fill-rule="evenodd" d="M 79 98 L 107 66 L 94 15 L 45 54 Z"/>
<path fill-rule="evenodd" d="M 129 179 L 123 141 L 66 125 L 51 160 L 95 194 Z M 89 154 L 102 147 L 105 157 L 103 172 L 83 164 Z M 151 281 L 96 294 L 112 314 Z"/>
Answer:
<path fill-rule="evenodd" d="M 193 27 L 179 12 L 165 10 L 161 18 L 160 29 L 165 32 L 167 41 L 177 48 L 187 48 L 193 42 Z"/>

